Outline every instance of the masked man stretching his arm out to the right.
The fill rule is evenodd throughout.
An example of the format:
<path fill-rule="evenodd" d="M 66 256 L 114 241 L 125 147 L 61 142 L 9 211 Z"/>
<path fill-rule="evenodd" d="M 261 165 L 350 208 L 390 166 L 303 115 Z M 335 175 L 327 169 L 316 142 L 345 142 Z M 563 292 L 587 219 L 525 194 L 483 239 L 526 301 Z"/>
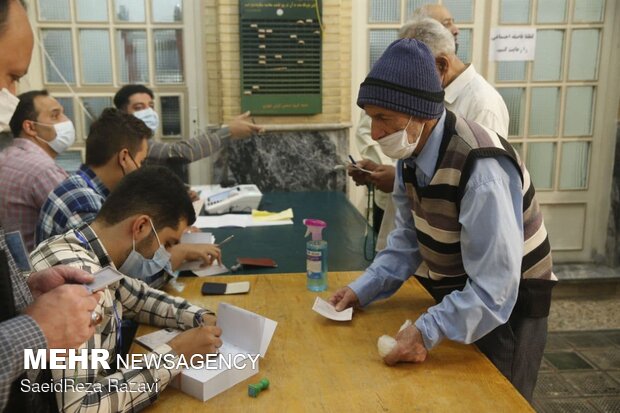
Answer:
<path fill-rule="evenodd" d="M 159 115 L 155 112 L 155 94 L 144 85 L 125 85 L 114 95 L 116 108 L 142 120 L 155 133 L 159 127 Z M 203 132 L 195 138 L 176 143 L 149 142 L 147 161 L 158 163 L 162 160 L 181 163 L 194 162 L 215 153 L 229 139 L 248 138 L 262 131 L 250 118 L 250 112 L 243 113 L 232 120 L 230 125 L 211 132 Z"/>

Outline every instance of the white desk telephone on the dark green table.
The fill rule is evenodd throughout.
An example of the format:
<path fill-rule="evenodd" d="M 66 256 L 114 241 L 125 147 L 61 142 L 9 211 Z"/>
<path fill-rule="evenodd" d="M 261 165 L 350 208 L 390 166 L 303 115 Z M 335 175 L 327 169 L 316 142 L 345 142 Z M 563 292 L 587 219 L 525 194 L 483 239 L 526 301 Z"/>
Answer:
<path fill-rule="evenodd" d="M 256 185 L 237 185 L 210 195 L 205 200 L 205 211 L 207 214 L 252 212 L 262 198 L 263 194 Z"/>

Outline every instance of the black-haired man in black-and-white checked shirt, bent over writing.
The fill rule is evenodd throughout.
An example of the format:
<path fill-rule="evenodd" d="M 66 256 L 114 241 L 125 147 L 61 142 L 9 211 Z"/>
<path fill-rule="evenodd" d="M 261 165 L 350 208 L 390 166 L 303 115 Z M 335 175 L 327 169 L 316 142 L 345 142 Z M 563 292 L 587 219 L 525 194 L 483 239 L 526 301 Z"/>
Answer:
<path fill-rule="evenodd" d="M 70 230 L 64 235 L 41 243 L 31 254 L 35 269 L 66 264 L 95 272 L 105 266 L 122 269 L 130 265 L 148 265 L 165 248 L 179 242 L 181 235 L 196 219 L 192 202 L 181 180 L 163 167 L 144 167 L 122 179 L 104 203 L 91 225 Z M 106 287 L 97 310 L 102 323 L 95 335 L 80 348 L 103 348 L 112 363 L 123 337 L 118 336 L 123 318 L 159 327 L 186 330 L 161 345 L 151 354 L 187 359 L 194 354 L 211 354 L 221 346 L 221 330 L 215 327 L 213 313 L 187 301 L 150 288 L 146 283 L 124 277 Z M 205 324 L 206 326 L 201 326 Z M 126 339 L 126 338 L 125 338 Z M 168 363 L 165 363 L 168 364 Z M 58 407 L 63 411 L 138 411 L 152 404 L 159 393 L 180 370 L 162 366 L 115 372 L 65 369 L 52 372 L 55 381 L 102 386 L 100 392 L 87 390 L 57 393 Z M 143 393 L 123 392 L 119 383 L 129 389 L 139 386 L 151 390 Z M 149 386 L 145 386 L 148 384 Z M 157 384 L 157 388 L 153 388 Z"/>

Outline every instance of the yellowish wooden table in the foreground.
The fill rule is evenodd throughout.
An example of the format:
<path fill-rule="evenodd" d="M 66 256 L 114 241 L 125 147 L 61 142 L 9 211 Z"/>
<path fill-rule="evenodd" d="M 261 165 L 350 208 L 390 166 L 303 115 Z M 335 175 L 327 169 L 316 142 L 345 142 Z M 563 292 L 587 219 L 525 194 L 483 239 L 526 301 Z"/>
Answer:
<path fill-rule="evenodd" d="M 330 273 L 330 290 L 359 272 Z M 389 300 L 354 311 L 350 322 L 323 318 L 311 310 L 316 293 L 306 290 L 305 274 L 210 277 L 209 281 L 249 280 L 248 294 L 202 296 L 205 279 L 185 278 L 178 294 L 217 309 L 226 301 L 278 322 L 260 373 L 203 403 L 167 388 L 148 412 L 532 412 L 530 405 L 474 346 L 443 342 L 422 364 L 386 366 L 377 353 L 382 334 L 395 335 L 433 300 L 410 279 Z M 330 292 L 319 293 L 328 298 Z M 142 326 L 138 335 L 152 331 Z M 144 351 L 134 344 L 133 352 Z M 269 378 L 258 398 L 247 385 Z"/>

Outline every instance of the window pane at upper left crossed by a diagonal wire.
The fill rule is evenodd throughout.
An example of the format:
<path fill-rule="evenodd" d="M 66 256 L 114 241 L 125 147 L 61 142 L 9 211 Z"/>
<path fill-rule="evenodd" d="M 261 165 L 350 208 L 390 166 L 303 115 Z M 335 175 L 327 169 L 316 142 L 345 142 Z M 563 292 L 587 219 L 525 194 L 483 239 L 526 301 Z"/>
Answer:
<path fill-rule="evenodd" d="M 45 59 L 45 83 L 63 83 L 58 71 L 67 82 L 75 83 L 71 30 L 42 30 L 41 38 L 43 47 L 49 55 L 49 58 Z"/>

